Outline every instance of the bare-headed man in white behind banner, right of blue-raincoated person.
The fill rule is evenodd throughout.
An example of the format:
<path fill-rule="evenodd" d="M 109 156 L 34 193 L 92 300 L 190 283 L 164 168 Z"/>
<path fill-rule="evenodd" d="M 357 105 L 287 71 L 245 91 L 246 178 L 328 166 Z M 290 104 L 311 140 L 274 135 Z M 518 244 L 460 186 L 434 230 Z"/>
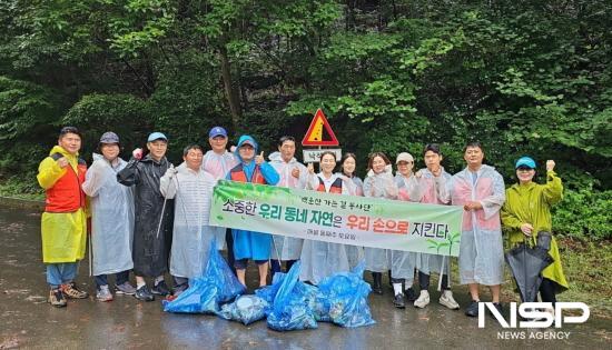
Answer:
<path fill-rule="evenodd" d="M 278 140 L 278 152 L 272 153 L 268 159 L 270 166 L 278 172 L 280 180 L 276 186 L 292 189 L 305 189 L 308 178 L 308 170 L 295 159 L 295 139 L 284 136 Z M 282 261 L 286 261 L 286 271 L 289 271 L 294 262 L 302 253 L 303 239 L 274 236 L 272 250 L 272 278 L 274 273 L 280 272 Z"/>

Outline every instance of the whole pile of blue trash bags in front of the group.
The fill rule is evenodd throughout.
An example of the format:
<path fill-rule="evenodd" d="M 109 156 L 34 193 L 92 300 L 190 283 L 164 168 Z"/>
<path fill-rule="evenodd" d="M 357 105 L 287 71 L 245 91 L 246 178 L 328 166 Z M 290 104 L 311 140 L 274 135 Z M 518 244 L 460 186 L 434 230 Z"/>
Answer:
<path fill-rule="evenodd" d="M 164 311 L 211 313 L 244 324 L 266 319 L 276 331 L 315 329 L 317 322 L 371 326 L 376 321 L 367 304 L 372 289 L 363 280 L 364 266 L 361 262 L 351 272 L 329 276 L 315 287 L 299 281 L 302 263 L 297 261 L 287 273 L 275 273 L 272 286 L 243 296 L 245 287 L 213 242 L 205 274 L 189 280 L 189 288 L 175 300 L 164 301 Z"/>

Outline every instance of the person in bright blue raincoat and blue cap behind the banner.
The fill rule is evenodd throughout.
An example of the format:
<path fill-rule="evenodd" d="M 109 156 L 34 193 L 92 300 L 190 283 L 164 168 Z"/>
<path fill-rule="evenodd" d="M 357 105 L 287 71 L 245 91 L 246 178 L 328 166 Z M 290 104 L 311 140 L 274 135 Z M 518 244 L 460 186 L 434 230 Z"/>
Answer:
<path fill-rule="evenodd" d="M 279 176 L 274 168 L 264 160 L 264 152 L 258 156 L 258 146 L 254 138 L 243 134 L 238 139 L 236 157 L 240 160 L 227 173 L 226 178 L 239 182 L 253 182 L 259 184 L 276 184 Z M 272 236 L 269 233 L 231 230 L 234 237 L 234 267 L 240 283 L 246 286 L 245 273 L 249 259 L 253 259 L 259 268 L 259 287 L 267 284 L 268 260 L 272 251 Z"/>

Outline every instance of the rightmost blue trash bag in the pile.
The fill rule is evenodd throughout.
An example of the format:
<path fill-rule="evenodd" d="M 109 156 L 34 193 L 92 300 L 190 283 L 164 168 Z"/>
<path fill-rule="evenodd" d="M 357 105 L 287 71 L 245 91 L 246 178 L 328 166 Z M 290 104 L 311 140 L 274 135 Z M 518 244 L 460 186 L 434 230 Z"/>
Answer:
<path fill-rule="evenodd" d="M 320 281 L 315 306 L 317 321 L 347 328 L 376 323 L 367 304 L 372 288 L 363 280 L 364 269 L 362 261 L 352 272 L 334 273 Z"/>

